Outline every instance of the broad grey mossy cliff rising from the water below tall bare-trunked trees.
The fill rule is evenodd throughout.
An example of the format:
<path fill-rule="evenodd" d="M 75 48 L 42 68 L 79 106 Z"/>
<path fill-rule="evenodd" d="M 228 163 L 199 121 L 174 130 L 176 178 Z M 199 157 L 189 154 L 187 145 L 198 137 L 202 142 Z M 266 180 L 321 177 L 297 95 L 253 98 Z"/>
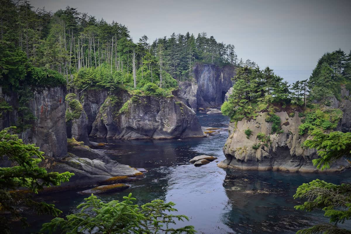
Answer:
<path fill-rule="evenodd" d="M 109 94 L 87 91 L 79 100 L 83 109 L 80 117 L 70 123 L 70 132 L 87 145 L 92 143 L 88 136 L 116 139 L 203 136 L 196 113 L 177 94 L 157 97 L 132 96 L 125 91 Z"/>

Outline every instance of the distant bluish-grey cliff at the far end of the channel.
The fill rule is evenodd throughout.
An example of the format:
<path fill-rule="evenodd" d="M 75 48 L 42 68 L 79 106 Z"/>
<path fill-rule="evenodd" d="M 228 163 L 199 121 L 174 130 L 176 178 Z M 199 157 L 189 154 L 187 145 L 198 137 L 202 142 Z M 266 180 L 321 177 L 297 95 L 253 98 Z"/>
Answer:
<path fill-rule="evenodd" d="M 197 64 L 193 68 L 195 82 L 179 82 L 180 95 L 188 99 L 191 107 L 219 106 L 229 88 L 233 86 L 231 78 L 236 75 L 234 66 L 218 67 Z"/>

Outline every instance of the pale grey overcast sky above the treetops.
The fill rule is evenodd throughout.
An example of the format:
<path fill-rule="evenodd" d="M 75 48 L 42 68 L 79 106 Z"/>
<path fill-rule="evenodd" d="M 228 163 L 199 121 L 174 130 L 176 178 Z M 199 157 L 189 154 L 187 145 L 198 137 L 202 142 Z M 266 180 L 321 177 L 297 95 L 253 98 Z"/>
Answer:
<path fill-rule="evenodd" d="M 32 0 L 55 12 L 78 8 L 97 19 L 117 21 L 134 42 L 173 32 L 206 32 L 232 44 L 239 58 L 269 66 L 290 83 L 309 78 L 318 59 L 351 49 L 351 0 Z"/>

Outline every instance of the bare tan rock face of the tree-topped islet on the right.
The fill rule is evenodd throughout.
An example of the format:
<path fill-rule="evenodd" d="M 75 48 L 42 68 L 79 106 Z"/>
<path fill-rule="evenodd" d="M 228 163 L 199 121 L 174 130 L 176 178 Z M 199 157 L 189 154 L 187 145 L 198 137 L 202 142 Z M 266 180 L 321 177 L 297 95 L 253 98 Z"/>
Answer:
<path fill-rule="evenodd" d="M 286 172 L 319 172 L 312 160 L 317 158 L 316 150 L 303 148 L 306 135 L 299 135 L 301 118 L 298 112 L 290 117 L 287 112 L 278 112 L 283 133 L 271 134 L 270 122 L 265 122 L 267 113 L 260 113 L 256 120 L 245 119 L 229 125 L 229 138 L 223 148 L 226 160 L 219 167 L 240 168 L 249 170 L 273 170 Z M 245 130 L 251 130 L 246 138 Z M 263 140 L 257 138 L 258 134 Z M 262 139 L 262 137 L 261 137 Z M 326 172 L 343 171 L 349 162 L 340 160 Z"/>

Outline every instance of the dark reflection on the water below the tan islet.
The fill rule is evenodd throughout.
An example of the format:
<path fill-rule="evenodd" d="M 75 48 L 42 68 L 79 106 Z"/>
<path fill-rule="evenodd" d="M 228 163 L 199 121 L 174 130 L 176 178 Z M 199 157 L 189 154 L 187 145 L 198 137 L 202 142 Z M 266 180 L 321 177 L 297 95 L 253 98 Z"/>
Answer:
<path fill-rule="evenodd" d="M 333 183 L 348 180 L 343 174 L 289 174 L 227 170 L 223 187 L 230 208 L 222 221 L 237 233 L 296 233 L 319 222 L 329 222 L 323 212 L 295 210 L 292 198 L 302 183 L 319 178 Z M 347 225 L 346 225 L 347 227 Z"/>

